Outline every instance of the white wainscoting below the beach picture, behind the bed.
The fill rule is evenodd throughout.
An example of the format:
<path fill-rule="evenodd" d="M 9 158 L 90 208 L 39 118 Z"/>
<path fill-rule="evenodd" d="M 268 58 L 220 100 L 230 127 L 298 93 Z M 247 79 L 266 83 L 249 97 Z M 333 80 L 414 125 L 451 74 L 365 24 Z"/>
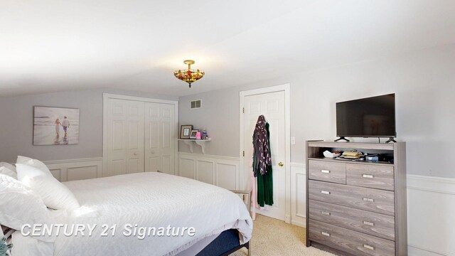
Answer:
<path fill-rule="evenodd" d="M 77 181 L 102 177 L 102 157 L 45 161 L 58 181 Z"/>

